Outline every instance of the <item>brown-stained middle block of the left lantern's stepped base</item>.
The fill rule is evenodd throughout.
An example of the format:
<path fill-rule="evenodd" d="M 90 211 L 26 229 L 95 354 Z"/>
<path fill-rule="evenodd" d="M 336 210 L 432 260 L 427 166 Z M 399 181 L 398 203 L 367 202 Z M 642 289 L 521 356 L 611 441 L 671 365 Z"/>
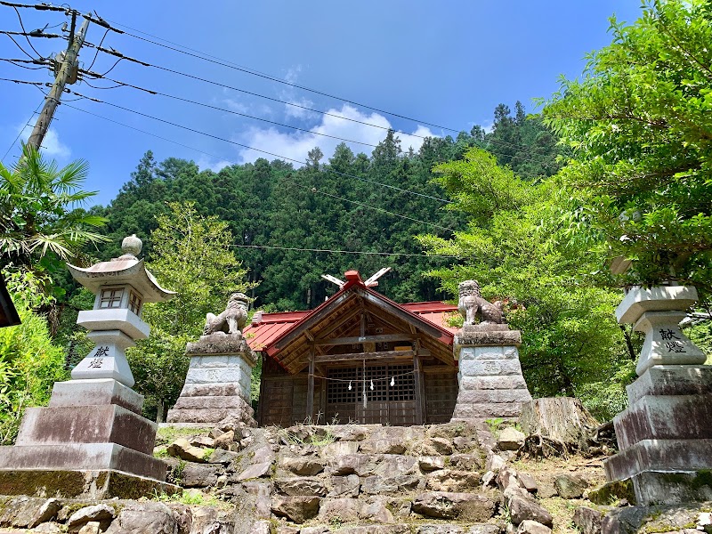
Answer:
<path fill-rule="evenodd" d="M 158 425 L 116 404 L 28 408 L 15 445 L 111 444 L 153 453 Z M 74 467 L 72 467 L 74 468 Z"/>

